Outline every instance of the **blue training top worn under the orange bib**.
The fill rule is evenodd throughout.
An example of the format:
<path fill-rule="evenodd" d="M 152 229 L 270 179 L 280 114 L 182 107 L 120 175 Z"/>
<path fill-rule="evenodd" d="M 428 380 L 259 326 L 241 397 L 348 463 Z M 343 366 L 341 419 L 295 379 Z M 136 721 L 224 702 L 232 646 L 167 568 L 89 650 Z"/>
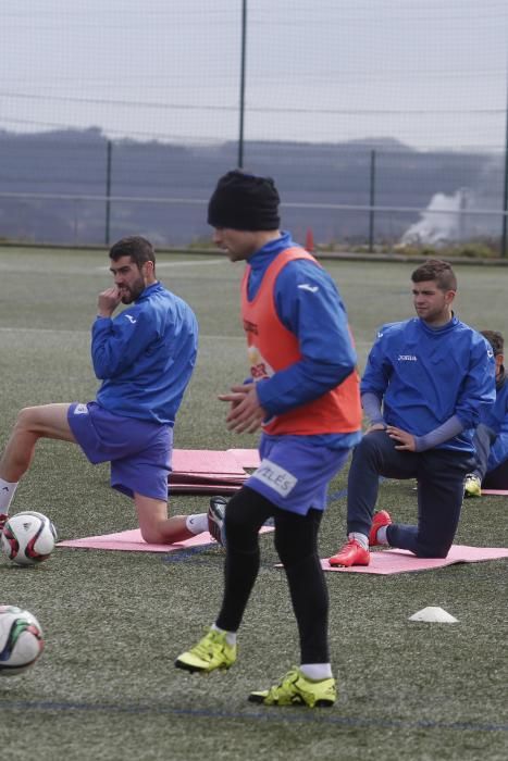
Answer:
<path fill-rule="evenodd" d="M 253 299 L 263 275 L 277 257 L 296 246 L 288 233 L 282 233 L 249 258 L 248 297 Z M 260 404 L 277 415 L 340 384 L 357 364 L 357 354 L 348 328 L 347 313 L 330 274 L 305 259 L 296 259 L 278 273 L 274 288 L 277 315 L 298 338 L 301 360 L 258 383 Z M 360 435 L 322 434 L 308 438 L 313 444 L 350 447 Z"/>

